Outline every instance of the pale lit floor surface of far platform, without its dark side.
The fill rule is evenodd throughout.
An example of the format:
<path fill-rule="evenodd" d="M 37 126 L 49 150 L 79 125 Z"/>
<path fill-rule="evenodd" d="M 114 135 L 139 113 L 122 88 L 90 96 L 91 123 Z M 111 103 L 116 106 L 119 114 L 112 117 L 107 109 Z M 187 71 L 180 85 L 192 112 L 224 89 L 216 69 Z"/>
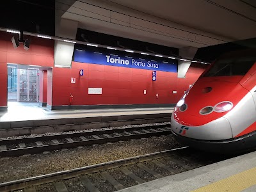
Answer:
<path fill-rule="evenodd" d="M 172 113 L 173 108 L 76 109 L 50 111 L 38 102 L 8 102 L 8 111 L 0 113 L 0 122 L 81 118 L 90 116 L 144 115 Z"/>

